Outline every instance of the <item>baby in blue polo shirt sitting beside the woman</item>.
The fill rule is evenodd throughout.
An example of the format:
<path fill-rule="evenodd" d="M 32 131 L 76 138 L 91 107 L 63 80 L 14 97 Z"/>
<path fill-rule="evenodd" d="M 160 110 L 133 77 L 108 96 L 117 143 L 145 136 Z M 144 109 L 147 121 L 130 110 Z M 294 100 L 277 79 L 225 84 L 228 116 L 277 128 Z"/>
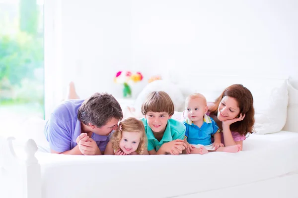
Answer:
<path fill-rule="evenodd" d="M 206 115 L 208 111 L 206 98 L 202 94 L 192 94 L 185 100 L 187 118 L 184 121 L 186 127 L 184 141 L 187 145 L 187 154 L 205 154 L 208 150 L 239 152 L 240 145 L 224 147 L 221 143 L 221 130 L 216 122 Z M 212 143 L 214 136 L 214 144 Z"/>

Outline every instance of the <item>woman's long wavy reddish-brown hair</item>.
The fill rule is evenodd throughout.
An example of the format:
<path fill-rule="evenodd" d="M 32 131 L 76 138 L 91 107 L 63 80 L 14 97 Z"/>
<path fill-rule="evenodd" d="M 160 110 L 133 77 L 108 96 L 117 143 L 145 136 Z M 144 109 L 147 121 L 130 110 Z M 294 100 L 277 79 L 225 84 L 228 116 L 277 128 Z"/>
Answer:
<path fill-rule="evenodd" d="M 214 115 L 214 116 L 218 115 L 219 105 L 225 96 L 236 99 L 242 116 L 245 113 L 245 117 L 242 121 L 234 122 L 230 125 L 230 130 L 234 132 L 238 132 L 240 135 L 244 135 L 244 136 L 247 133 L 254 132 L 253 125 L 255 120 L 254 120 L 253 97 L 251 92 L 243 85 L 235 84 L 227 87 L 224 90 L 224 92 L 221 94 L 221 96 L 215 100 L 214 105 L 209 108 L 210 115 Z M 219 124 L 219 126 L 222 126 L 222 125 Z"/>

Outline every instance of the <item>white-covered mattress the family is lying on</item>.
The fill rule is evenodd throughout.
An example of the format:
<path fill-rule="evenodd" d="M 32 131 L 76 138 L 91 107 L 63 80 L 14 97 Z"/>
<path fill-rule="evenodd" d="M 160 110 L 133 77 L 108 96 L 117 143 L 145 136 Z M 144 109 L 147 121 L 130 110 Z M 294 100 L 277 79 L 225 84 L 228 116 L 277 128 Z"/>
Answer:
<path fill-rule="evenodd" d="M 36 157 L 43 198 L 184 197 L 296 174 L 298 133 L 252 134 L 239 153 Z"/>

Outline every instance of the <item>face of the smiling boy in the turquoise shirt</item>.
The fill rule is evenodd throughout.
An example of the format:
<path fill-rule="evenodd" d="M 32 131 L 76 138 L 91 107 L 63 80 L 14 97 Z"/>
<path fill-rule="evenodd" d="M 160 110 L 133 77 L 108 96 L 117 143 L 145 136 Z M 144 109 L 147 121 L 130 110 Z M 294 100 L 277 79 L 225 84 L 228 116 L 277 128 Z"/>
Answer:
<path fill-rule="evenodd" d="M 170 116 L 167 112 L 151 112 L 149 111 L 145 118 L 151 130 L 155 133 L 162 133 L 165 131 L 166 124 Z"/>

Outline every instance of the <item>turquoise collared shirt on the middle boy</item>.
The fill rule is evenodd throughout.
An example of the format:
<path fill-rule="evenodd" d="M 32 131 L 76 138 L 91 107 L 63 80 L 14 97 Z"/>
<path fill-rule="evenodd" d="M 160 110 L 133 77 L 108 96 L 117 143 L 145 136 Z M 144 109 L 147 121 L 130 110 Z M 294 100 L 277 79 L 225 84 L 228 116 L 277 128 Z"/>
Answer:
<path fill-rule="evenodd" d="M 173 140 L 184 139 L 186 127 L 182 122 L 174 119 L 168 119 L 162 139 L 160 142 L 158 142 L 147 123 L 147 119 L 142 118 L 141 120 L 145 126 L 145 132 L 148 138 L 148 150 L 155 149 L 157 151 L 164 143 L 171 142 Z"/>

